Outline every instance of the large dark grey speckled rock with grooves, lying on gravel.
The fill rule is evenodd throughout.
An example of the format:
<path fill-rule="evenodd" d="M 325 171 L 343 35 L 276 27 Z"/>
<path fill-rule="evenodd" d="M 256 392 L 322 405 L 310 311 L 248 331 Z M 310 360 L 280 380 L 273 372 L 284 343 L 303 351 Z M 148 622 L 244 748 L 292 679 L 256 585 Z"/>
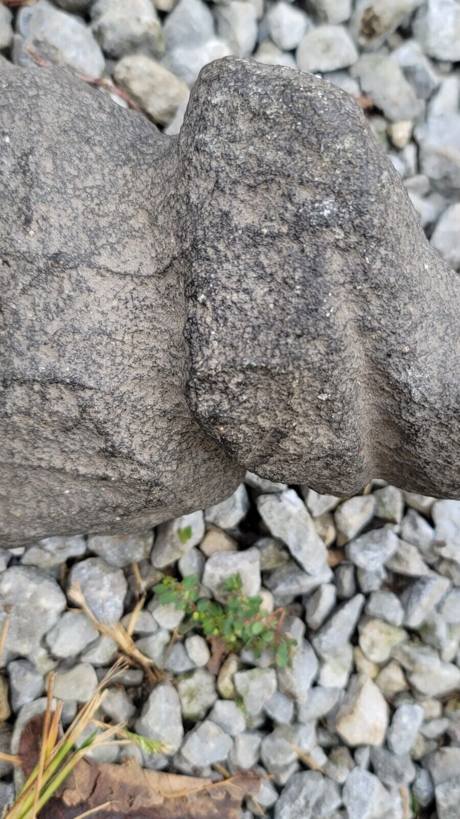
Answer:
<path fill-rule="evenodd" d="M 2 545 L 150 527 L 245 468 L 459 495 L 460 280 L 340 88 L 227 57 L 166 137 L 1 60 L 0 129 Z"/>

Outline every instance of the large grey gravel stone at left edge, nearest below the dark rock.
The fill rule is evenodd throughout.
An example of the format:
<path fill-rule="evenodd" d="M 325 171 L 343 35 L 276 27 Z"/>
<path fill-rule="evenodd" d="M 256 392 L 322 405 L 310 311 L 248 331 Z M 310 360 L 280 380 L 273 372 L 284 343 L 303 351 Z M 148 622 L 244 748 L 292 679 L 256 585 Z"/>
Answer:
<path fill-rule="evenodd" d="M 29 654 L 65 609 L 65 595 L 52 577 L 32 566 L 0 574 L 1 622 L 9 619 L 5 648 Z"/>

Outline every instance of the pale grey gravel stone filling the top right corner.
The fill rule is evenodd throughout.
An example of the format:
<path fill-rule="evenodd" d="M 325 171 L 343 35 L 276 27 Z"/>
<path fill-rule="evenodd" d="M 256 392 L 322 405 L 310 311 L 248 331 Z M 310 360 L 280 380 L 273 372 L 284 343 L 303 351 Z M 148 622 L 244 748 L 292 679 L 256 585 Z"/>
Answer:
<path fill-rule="evenodd" d="M 426 54 L 460 60 L 460 7 L 457 0 L 427 0 L 413 22 L 413 34 Z"/>

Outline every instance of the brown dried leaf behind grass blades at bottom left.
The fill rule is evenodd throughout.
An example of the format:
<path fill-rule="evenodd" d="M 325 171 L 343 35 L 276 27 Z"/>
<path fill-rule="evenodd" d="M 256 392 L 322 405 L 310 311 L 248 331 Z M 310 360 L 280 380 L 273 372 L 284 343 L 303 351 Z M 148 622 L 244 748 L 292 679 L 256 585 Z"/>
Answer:
<path fill-rule="evenodd" d="M 26 723 L 20 737 L 21 767 L 28 776 L 38 761 L 43 715 Z M 41 809 L 40 819 L 239 819 L 242 799 L 259 792 L 260 778 L 245 773 L 222 782 L 163 771 L 137 762 L 98 764 L 82 759 Z"/>

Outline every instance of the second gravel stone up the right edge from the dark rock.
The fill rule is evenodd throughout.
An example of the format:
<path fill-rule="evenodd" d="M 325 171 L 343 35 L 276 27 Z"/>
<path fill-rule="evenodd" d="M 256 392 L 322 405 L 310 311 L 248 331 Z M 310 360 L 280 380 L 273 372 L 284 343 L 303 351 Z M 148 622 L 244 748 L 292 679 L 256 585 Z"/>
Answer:
<path fill-rule="evenodd" d="M 420 147 L 420 170 L 433 187 L 445 196 L 460 193 L 460 114 L 430 116 L 417 125 L 415 138 Z"/>

